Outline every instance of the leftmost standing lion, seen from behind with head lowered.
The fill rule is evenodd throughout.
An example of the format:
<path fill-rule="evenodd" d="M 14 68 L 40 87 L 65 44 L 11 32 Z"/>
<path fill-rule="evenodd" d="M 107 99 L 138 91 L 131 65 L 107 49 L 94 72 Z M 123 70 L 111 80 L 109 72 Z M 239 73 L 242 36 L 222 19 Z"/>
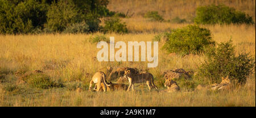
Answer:
<path fill-rule="evenodd" d="M 92 90 L 92 85 L 93 83 L 95 83 L 96 86 L 94 87 L 94 89 L 96 89 L 96 91 L 100 91 L 100 88 L 102 87 L 103 91 L 105 92 L 107 89 L 107 86 L 110 86 L 109 84 L 106 83 L 105 78 L 106 78 L 106 75 L 104 72 L 102 71 L 96 72 L 93 75 L 92 80 L 90 81 L 89 91 Z"/>

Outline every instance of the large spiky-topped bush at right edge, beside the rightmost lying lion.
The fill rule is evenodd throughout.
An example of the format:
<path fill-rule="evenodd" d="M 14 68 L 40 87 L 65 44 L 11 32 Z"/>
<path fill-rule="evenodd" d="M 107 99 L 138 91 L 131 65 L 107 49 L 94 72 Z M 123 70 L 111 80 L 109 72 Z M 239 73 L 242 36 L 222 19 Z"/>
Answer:
<path fill-rule="evenodd" d="M 247 53 L 236 56 L 231 40 L 218 44 L 217 48 L 209 48 L 205 55 L 207 60 L 200 66 L 199 75 L 208 78 L 205 81 L 209 83 L 218 83 L 227 75 L 236 82 L 245 83 L 255 68 L 255 60 Z"/>

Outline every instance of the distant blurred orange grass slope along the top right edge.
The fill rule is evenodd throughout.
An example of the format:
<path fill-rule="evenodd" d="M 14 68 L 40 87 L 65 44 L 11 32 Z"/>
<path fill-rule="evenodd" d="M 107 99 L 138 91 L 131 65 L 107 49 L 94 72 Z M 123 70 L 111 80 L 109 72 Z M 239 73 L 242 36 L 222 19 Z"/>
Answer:
<path fill-rule="evenodd" d="M 111 11 L 134 13 L 134 17 L 141 16 L 147 11 L 158 11 L 165 19 L 176 16 L 191 20 L 195 16 L 196 7 L 205 5 L 226 5 L 236 10 L 246 12 L 255 21 L 255 0 L 110 0 L 108 9 Z"/>

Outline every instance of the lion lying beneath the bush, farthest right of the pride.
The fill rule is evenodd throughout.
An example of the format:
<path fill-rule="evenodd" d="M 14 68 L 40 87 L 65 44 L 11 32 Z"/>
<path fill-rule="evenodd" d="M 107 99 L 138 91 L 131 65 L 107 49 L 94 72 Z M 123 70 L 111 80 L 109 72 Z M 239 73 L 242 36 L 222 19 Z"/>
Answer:
<path fill-rule="evenodd" d="M 213 84 L 212 85 L 213 86 L 211 88 L 212 90 L 223 90 L 223 89 L 228 88 L 230 86 L 231 81 L 229 79 L 229 76 L 227 76 L 226 78 L 222 77 L 221 79 L 222 79 L 222 81 L 221 81 L 220 84 Z"/>

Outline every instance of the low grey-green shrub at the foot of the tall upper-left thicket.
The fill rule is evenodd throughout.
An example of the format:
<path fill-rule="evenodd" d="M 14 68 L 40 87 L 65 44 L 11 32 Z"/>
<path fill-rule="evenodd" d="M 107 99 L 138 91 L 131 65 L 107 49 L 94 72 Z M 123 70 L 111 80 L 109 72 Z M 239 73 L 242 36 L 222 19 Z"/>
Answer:
<path fill-rule="evenodd" d="M 67 28 L 65 28 L 64 33 L 86 33 L 89 32 L 89 26 L 84 23 L 74 23 Z"/>

